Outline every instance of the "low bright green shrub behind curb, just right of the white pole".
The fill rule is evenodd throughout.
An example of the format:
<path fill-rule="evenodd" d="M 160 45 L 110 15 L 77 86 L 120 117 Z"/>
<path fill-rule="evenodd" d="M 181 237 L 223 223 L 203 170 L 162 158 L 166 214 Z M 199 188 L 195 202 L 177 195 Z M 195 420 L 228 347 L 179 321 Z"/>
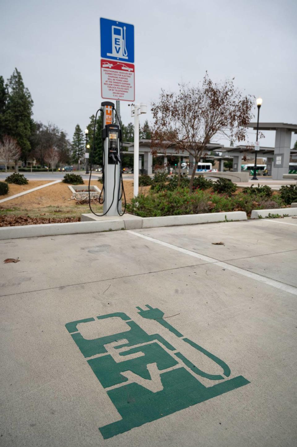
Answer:
<path fill-rule="evenodd" d="M 127 211 L 140 217 L 207 213 L 211 208 L 209 199 L 209 194 L 199 190 L 190 194 L 188 188 L 150 191 L 146 196 L 139 194 L 132 198 Z"/>

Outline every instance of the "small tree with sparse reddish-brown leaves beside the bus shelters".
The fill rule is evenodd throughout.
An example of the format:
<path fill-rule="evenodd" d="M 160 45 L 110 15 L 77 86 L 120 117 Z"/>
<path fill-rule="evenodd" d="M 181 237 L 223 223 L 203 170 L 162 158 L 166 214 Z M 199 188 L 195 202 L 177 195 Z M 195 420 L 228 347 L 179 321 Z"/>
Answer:
<path fill-rule="evenodd" d="M 152 103 L 154 125 L 153 155 L 173 146 L 176 152 L 188 152 L 194 158 L 190 181 L 192 190 L 197 163 L 214 138 L 243 141 L 247 124 L 253 117 L 252 96 L 243 96 L 234 79 L 213 82 L 206 72 L 201 85 L 180 84 L 178 93 L 161 91 L 159 101 Z"/>

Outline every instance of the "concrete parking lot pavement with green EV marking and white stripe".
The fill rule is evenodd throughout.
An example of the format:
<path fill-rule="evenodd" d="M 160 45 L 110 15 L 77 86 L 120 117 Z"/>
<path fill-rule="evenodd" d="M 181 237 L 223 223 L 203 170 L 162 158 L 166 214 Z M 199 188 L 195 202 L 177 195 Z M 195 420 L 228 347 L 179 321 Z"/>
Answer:
<path fill-rule="evenodd" d="M 296 446 L 297 219 L 0 251 L 1 446 Z"/>

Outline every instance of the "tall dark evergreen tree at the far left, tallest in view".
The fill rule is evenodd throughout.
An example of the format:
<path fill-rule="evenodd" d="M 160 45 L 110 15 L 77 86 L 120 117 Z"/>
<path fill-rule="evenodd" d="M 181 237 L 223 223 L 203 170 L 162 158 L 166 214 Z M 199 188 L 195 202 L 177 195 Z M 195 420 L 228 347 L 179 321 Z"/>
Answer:
<path fill-rule="evenodd" d="M 5 96 L 3 78 L 0 80 L 2 101 L 6 98 L 4 114 L 2 113 L 2 132 L 17 139 L 21 148 L 21 159 L 26 160 L 30 152 L 30 134 L 32 126 L 33 101 L 29 90 L 25 87 L 21 73 L 15 68 L 8 79 L 8 95 Z M 1 95 L 1 93 L 0 93 Z"/>

